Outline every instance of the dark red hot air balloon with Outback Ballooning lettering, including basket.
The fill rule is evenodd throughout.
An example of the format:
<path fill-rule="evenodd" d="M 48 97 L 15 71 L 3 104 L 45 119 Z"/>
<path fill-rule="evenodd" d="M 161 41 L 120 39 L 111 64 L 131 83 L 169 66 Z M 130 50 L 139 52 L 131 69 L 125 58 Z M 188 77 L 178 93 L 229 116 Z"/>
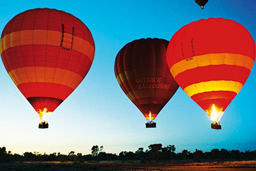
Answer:
<path fill-rule="evenodd" d="M 134 40 L 116 56 L 118 84 L 148 120 L 146 128 L 156 128 L 153 120 L 179 87 L 168 70 L 167 46 L 158 38 Z"/>

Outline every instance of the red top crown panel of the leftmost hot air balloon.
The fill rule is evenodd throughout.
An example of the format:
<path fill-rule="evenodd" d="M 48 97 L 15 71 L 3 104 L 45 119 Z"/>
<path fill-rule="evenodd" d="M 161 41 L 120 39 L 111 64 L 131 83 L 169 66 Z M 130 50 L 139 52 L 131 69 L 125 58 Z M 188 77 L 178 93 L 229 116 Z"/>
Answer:
<path fill-rule="evenodd" d="M 81 20 L 70 13 L 49 8 L 36 8 L 19 13 L 8 22 L 1 38 L 6 34 L 22 30 L 43 29 L 62 32 L 62 24 L 74 27 L 74 36 L 83 38 L 94 47 L 92 36 L 88 36 L 90 30 Z"/>

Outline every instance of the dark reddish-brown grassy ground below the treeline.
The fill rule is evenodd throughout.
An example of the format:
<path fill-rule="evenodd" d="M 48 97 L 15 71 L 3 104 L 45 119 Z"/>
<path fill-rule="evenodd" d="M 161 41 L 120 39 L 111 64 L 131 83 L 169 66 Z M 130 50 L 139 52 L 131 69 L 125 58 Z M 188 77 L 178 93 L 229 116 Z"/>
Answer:
<path fill-rule="evenodd" d="M 195 163 L 191 161 L 169 161 L 140 163 L 139 161 L 94 161 L 84 163 L 73 162 L 23 162 L 0 163 L 0 170 L 256 170 L 256 161 L 212 161 Z"/>

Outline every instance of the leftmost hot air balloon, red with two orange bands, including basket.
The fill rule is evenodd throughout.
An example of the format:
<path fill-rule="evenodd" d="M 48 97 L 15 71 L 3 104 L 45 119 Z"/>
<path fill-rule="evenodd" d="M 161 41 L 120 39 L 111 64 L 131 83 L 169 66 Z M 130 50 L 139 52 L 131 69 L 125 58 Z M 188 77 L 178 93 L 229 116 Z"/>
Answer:
<path fill-rule="evenodd" d="M 40 128 L 48 128 L 45 116 L 86 76 L 94 52 L 88 27 L 65 11 L 24 11 L 6 24 L 1 35 L 4 66 L 39 114 Z"/>

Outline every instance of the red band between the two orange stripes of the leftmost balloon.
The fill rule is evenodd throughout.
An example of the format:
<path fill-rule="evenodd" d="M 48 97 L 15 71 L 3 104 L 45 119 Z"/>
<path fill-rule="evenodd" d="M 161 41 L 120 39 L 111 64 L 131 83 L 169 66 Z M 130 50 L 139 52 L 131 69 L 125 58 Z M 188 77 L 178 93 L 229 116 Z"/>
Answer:
<path fill-rule="evenodd" d="M 63 50 L 61 47 L 51 45 L 11 47 L 4 50 L 2 59 L 8 72 L 24 66 L 47 66 L 74 71 L 83 78 L 92 65 L 90 58 L 81 52 L 72 49 Z"/>

